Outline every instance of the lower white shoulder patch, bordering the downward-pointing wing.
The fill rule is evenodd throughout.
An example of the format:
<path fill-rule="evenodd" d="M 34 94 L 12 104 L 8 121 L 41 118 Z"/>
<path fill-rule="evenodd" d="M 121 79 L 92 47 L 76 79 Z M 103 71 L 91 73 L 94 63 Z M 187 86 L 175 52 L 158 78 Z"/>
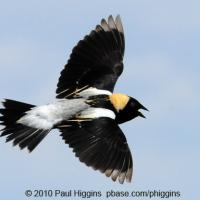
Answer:
<path fill-rule="evenodd" d="M 115 113 L 112 110 L 105 108 L 88 108 L 81 112 L 80 118 L 99 118 L 99 117 L 109 117 L 115 119 Z"/>

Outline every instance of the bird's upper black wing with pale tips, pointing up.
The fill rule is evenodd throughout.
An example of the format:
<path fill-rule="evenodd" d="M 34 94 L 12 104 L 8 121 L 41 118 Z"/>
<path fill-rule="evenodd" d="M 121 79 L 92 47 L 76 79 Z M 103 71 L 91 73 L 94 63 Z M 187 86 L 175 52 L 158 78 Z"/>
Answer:
<path fill-rule="evenodd" d="M 125 41 L 120 16 L 101 20 L 95 30 L 73 48 L 68 63 L 61 71 L 57 98 L 73 97 L 74 91 L 87 87 L 113 92 L 123 71 Z"/>

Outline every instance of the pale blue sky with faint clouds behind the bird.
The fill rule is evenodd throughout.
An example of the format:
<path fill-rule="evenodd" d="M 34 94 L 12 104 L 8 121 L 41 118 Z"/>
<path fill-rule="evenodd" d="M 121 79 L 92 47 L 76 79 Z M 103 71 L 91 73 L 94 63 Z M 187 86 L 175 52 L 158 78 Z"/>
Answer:
<path fill-rule="evenodd" d="M 150 110 L 147 119 L 121 126 L 133 154 L 131 184 L 114 183 L 80 163 L 60 133 L 52 131 L 31 154 L 0 138 L 0 199 L 27 199 L 27 189 L 95 190 L 103 196 L 109 190 L 171 190 L 181 193 L 171 199 L 198 198 L 200 1 L 0 3 L 1 100 L 36 105 L 55 101 L 57 80 L 73 46 L 101 18 L 120 14 L 125 69 L 115 91 L 135 97 Z"/>

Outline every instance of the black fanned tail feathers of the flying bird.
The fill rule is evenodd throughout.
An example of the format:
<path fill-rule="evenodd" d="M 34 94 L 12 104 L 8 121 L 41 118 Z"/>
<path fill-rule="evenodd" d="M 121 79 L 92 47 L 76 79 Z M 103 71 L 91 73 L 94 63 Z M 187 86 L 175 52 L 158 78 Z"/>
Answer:
<path fill-rule="evenodd" d="M 0 125 L 4 128 L 0 130 L 0 136 L 7 136 L 6 142 L 13 141 L 13 145 L 19 145 L 21 149 L 27 147 L 31 152 L 49 130 L 32 128 L 17 121 L 35 106 L 9 99 L 5 99 L 2 104 L 4 108 L 0 109 Z"/>

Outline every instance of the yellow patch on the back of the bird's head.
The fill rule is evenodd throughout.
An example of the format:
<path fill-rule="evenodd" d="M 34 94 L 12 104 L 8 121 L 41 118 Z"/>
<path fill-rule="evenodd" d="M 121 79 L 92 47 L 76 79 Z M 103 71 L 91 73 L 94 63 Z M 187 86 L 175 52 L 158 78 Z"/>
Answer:
<path fill-rule="evenodd" d="M 123 110 L 130 99 L 130 97 L 127 96 L 126 94 L 120 94 L 120 93 L 112 94 L 109 97 L 110 97 L 111 103 L 113 104 L 117 112 L 119 112 L 120 110 Z"/>

